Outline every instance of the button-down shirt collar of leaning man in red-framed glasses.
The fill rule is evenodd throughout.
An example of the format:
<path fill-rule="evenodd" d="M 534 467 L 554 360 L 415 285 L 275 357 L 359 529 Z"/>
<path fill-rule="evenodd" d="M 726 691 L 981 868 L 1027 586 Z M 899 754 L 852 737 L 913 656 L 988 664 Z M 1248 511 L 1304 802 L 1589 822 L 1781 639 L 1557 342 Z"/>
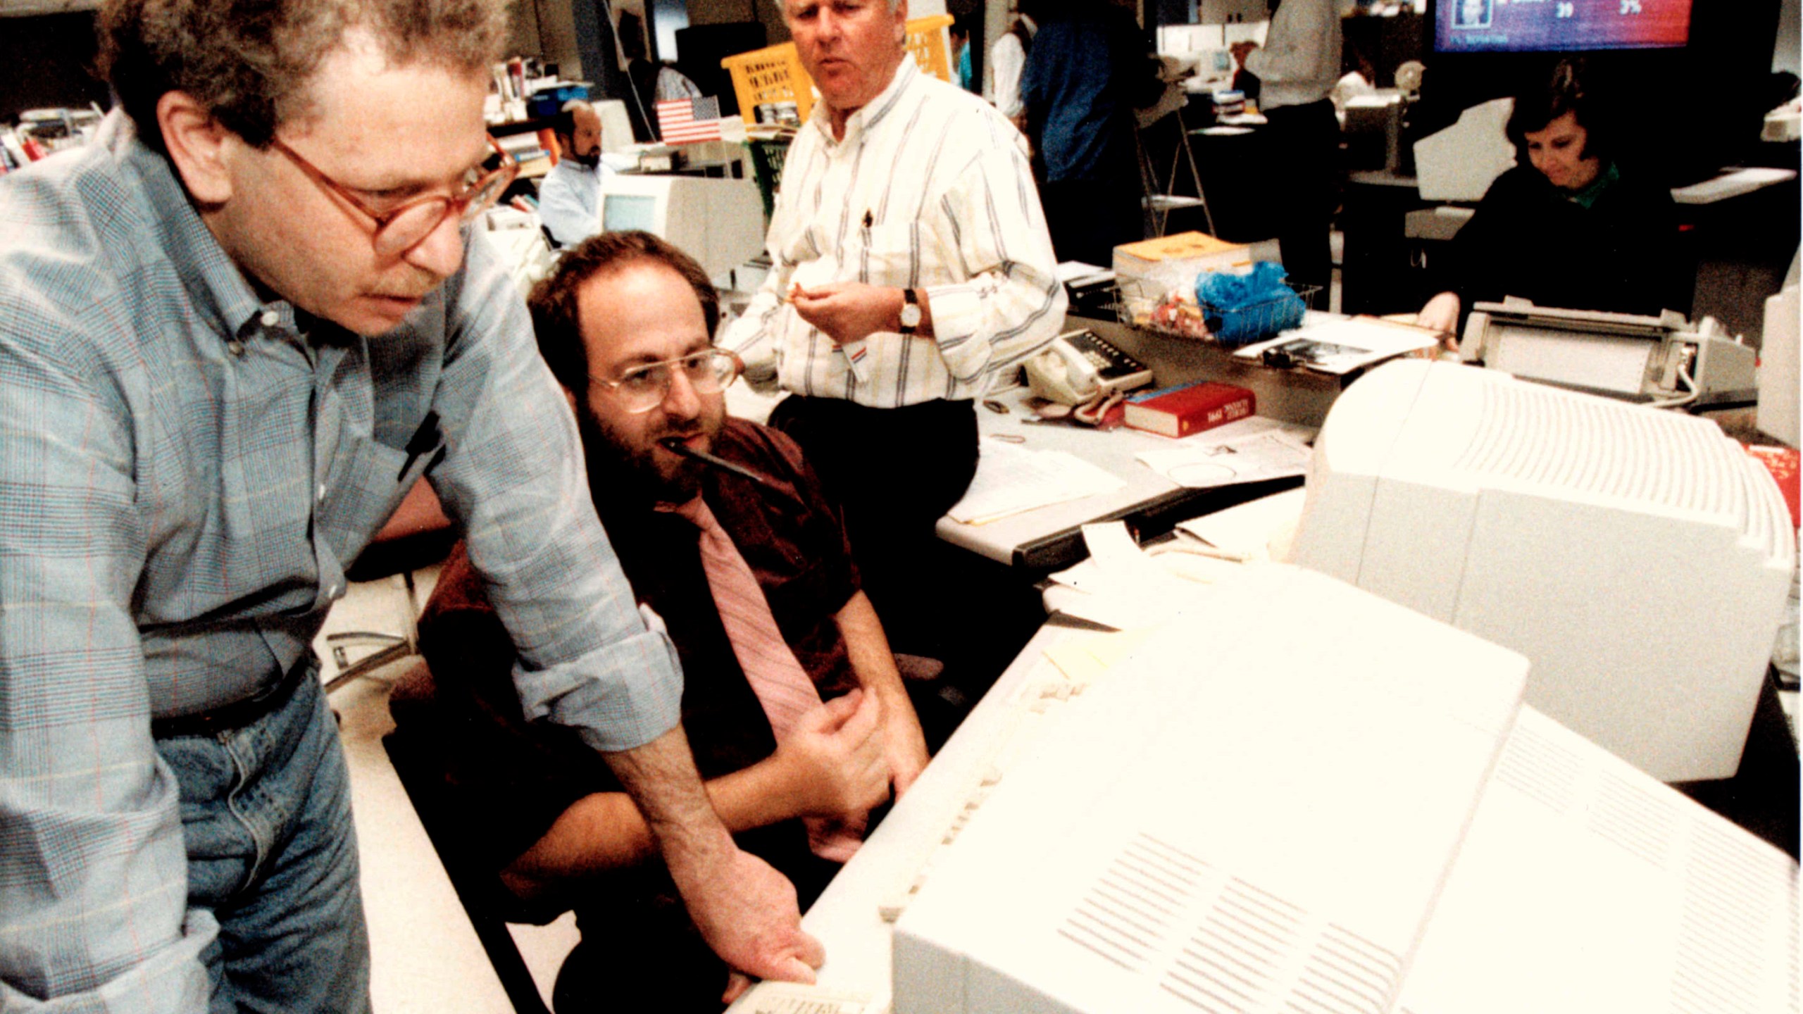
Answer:
<path fill-rule="evenodd" d="M 175 177 L 169 159 L 151 152 L 137 137 L 124 112 L 106 114 L 94 141 L 139 179 L 151 207 L 151 227 L 168 251 L 169 263 L 182 278 L 182 287 L 195 314 L 209 325 L 222 341 L 233 341 L 260 327 L 281 325 L 294 330 L 294 307 L 287 300 L 261 301 L 243 271 L 231 260 L 225 247 L 200 220 L 188 188 Z M 274 314 L 270 318 L 269 314 Z"/>

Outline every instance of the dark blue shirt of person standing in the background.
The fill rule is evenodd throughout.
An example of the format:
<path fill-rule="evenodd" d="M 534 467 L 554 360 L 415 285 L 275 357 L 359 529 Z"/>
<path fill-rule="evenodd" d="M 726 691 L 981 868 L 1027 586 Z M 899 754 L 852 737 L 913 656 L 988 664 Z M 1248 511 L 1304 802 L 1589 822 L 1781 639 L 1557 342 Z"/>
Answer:
<path fill-rule="evenodd" d="M 1138 198 L 1132 110 L 1158 97 L 1156 85 L 1125 11 L 1082 11 L 1040 23 L 1020 70 L 1020 103 L 1039 132 L 1035 155 L 1044 179 L 1132 186 Z"/>

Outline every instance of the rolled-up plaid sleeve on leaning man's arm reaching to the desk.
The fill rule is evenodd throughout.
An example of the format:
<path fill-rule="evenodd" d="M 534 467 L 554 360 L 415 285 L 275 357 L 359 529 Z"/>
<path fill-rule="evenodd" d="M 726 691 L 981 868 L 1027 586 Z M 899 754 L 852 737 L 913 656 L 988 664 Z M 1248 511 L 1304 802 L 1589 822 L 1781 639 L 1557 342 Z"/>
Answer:
<path fill-rule="evenodd" d="M 680 716 L 676 651 L 633 603 L 590 500 L 568 402 L 480 236 L 449 296 L 435 397 L 447 442 L 427 476 L 519 651 L 521 709 L 575 727 L 599 751 L 649 743 Z"/>

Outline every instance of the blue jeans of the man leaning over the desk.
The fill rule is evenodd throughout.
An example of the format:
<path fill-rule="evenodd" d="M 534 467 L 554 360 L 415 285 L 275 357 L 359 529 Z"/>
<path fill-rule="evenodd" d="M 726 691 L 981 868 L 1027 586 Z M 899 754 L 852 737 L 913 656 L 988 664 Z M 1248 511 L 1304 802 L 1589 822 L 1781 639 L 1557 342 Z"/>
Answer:
<path fill-rule="evenodd" d="M 370 1010 L 350 776 L 314 673 L 256 722 L 157 740 L 182 790 L 188 904 L 213 911 L 211 1014 Z"/>

